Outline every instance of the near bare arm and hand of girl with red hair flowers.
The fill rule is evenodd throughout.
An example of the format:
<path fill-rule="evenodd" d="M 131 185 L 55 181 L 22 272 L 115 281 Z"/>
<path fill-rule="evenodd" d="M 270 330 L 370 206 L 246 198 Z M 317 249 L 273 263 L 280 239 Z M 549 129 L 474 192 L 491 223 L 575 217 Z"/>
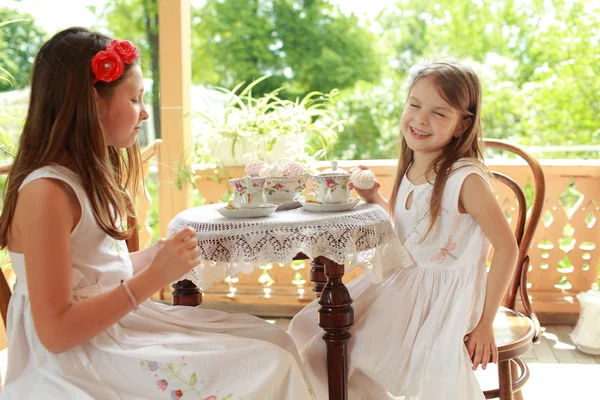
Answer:
<path fill-rule="evenodd" d="M 123 287 L 74 302 L 70 235 L 77 210 L 58 181 L 36 180 L 19 194 L 13 229 L 25 256 L 31 312 L 42 344 L 52 353 L 67 351 L 105 331 L 133 306 Z M 184 240 L 192 237 L 191 239 Z M 197 264 L 193 230 L 165 243 L 152 264 L 128 280 L 137 301 L 148 299 Z"/>

